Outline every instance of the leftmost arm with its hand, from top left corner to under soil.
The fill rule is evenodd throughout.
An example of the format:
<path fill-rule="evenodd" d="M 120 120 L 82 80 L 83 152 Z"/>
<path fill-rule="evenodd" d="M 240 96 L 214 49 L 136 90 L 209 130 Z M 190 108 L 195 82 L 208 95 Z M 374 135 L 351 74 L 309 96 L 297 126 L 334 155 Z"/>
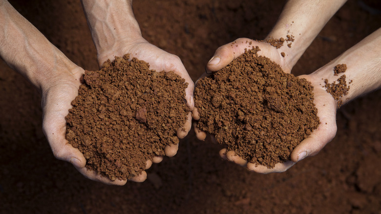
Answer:
<path fill-rule="evenodd" d="M 87 171 L 83 154 L 65 139 L 65 116 L 78 95 L 84 69 L 67 59 L 6 0 L 0 0 L 0 56 L 42 92 L 42 128 L 54 156 L 92 180 L 125 184 Z M 144 175 L 139 179 L 144 180 Z"/>

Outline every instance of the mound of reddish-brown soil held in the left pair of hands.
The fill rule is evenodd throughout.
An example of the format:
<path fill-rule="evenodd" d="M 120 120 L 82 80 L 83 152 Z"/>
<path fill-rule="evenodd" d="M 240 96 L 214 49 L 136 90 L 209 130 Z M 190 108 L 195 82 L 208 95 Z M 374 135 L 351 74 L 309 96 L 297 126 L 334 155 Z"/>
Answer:
<path fill-rule="evenodd" d="M 86 158 L 86 168 L 111 180 L 139 175 L 146 161 L 179 142 L 176 131 L 189 112 L 188 83 L 172 71 L 149 70 L 129 55 L 85 71 L 66 119 L 66 139 Z"/>

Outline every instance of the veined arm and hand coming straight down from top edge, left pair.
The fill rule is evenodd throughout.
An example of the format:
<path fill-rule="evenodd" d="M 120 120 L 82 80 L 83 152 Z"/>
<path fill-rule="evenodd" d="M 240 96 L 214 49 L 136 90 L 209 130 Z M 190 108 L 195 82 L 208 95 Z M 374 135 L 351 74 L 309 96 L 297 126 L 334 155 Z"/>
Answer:
<path fill-rule="evenodd" d="M 82 0 L 87 23 L 91 30 L 94 44 L 98 52 L 98 63 L 101 65 L 114 56 L 131 56 L 149 63 L 150 69 L 156 71 L 174 71 L 188 83 L 186 100 L 193 110 L 193 81 L 179 57 L 148 43 L 140 32 L 139 25 L 132 11 L 132 0 Z M 191 129 L 191 112 L 183 128 L 179 128 L 177 136 L 185 137 Z M 167 156 L 176 154 L 178 145 L 165 148 Z M 156 158 L 160 161 L 161 158 Z"/>

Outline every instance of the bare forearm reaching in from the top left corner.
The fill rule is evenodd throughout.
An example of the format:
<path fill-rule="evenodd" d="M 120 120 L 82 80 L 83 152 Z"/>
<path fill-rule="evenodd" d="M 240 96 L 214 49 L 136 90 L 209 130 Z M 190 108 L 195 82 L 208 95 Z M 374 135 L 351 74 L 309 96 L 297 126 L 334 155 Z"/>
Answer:
<path fill-rule="evenodd" d="M 39 89 L 75 67 L 6 0 L 0 0 L 0 56 Z"/>

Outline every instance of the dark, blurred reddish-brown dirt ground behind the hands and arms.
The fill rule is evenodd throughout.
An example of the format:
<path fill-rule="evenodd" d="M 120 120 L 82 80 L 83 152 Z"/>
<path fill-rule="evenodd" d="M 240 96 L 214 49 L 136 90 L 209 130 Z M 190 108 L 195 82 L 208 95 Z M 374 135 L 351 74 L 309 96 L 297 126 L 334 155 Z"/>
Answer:
<path fill-rule="evenodd" d="M 53 44 L 87 70 L 96 52 L 78 0 L 11 0 Z M 195 81 L 214 50 L 263 39 L 283 0 L 136 0 L 143 36 L 178 55 Z M 293 69 L 308 74 L 380 27 L 381 2 L 349 0 Z M 381 213 L 381 90 L 338 111 L 338 133 L 284 173 L 257 174 L 221 160 L 219 145 L 180 141 L 144 183 L 107 186 L 57 160 L 42 133 L 41 96 L 0 61 L 0 213 Z"/>

